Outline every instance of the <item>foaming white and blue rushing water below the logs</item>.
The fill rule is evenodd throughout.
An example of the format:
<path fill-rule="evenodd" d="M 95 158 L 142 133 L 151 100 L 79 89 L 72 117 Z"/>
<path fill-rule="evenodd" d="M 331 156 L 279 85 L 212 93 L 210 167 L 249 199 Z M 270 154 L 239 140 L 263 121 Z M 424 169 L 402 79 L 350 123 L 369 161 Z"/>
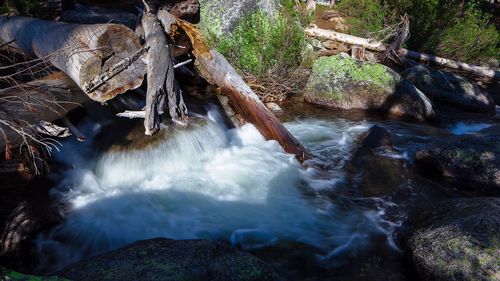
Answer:
<path fill-rule="evenodd" d="M 63 224 L 38 237 L 41 267 L 154 237 L 217 239 L 243 249 L 299 241 L 328 258 L 366 247 L 373 235 L 393 245 L 386 202 L 363 199 L 376 207 L 351 208 L 321 195 L 342 183 L 340 168 L 369 125 L 309 119 L 287 126 L 328 170 L 302 168 L 251 125 L 226 131 L 210 120 L 170 132 L 153 149 L 97 160 L 89 159 L 92 139 L 86 149 L 65 145 L 56 157 L 76 164 L 52 193 L 70 210 Z M 100 127 L 82 130 L 92 137 Z"/>

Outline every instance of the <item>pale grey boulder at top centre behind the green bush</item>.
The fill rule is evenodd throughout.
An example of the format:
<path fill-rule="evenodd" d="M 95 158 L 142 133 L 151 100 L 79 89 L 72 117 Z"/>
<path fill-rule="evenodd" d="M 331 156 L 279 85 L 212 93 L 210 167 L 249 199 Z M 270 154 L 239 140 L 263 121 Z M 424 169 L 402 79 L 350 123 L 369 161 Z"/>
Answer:
<path fill-rule="evenodd" d="M 275 17 L 279 0 L 199 0 L 200 27 L 205 35 L 221 37 L 231 33 L 240 21 L 257 12 Z"/>

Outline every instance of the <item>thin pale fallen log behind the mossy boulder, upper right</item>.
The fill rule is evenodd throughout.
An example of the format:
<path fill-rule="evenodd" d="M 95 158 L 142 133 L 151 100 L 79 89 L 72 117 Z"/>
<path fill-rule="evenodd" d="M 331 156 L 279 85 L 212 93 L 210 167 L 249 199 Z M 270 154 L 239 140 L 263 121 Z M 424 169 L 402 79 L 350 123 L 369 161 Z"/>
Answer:
<path fill-rule="evenodd" d="M 305 33 L 309 36 L 324 38 L 324 39 L 338 41 L 338 42 L 347 43 L 347 44 L 351 44 L 351 45 L 363 46 L 368 50 L 372 50 L 372 51 L 376 51 L 376 52 L 385 52 L 388 50 L 388 47 L 389 47 L 389 45 L 387 45 L 383 42 L 370 40 L 370 39 L 366 39 L 366 38 L 361 38 L 361 37 L 356 37 L 356 36 L 352 36 L 349 34 L 336 32 L 333 30 L 321 29 L 315 25 L 306 28 Z M 495 79 L 495 80 L 500 79 L 500 71 L 497 71 L 495 69 L 490 69 L 490 68 L 486 68 L 486 67 L 482 67 L 482 66 L 470 65 L 467 63 L 454 61 L 454 60 L 450 60 L 450 59 L 446 59 L 446 58 L 442 58 L 442 57 L 438 57 L 438 56 L 434 56 L 434 55 L 430 55 L 430 54 L 419 53 L 419 52 L 411 51 L 411 50 L 404 49 L 404 48 L 399 49 L 397 52 L 401 57 L 410 58 L 410 59 L 414 59 L 414 60 L 421 61 L 421 62 L 432 63 L 432 64 L 436 64 L 439 66 L 448 67 L 451 69 L 469 72 L 469 73 L 474 74 L 476 76 L 488 77 L 488 78 Z"/>

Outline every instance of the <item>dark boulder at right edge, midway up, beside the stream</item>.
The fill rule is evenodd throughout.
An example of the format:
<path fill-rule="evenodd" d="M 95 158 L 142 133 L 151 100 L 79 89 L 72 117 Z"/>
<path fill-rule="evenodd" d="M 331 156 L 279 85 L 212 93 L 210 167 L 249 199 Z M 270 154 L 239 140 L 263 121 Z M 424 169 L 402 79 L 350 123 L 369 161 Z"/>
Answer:
<path fill-rule="evenodd" d="M 430 143 L 415 154 L 420 171 L 464 191 L 500 194 L 500 126 Z"/>

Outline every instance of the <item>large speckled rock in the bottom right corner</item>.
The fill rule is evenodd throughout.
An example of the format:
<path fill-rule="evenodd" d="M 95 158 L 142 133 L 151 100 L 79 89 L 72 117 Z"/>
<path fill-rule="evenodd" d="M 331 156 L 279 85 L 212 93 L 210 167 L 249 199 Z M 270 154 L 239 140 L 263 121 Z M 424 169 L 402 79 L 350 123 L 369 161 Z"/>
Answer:
<path fill-rule="evenodd" d="M 442 202 L 406 241 L 421 280 L 498 280 L 500 199 Z"/>

